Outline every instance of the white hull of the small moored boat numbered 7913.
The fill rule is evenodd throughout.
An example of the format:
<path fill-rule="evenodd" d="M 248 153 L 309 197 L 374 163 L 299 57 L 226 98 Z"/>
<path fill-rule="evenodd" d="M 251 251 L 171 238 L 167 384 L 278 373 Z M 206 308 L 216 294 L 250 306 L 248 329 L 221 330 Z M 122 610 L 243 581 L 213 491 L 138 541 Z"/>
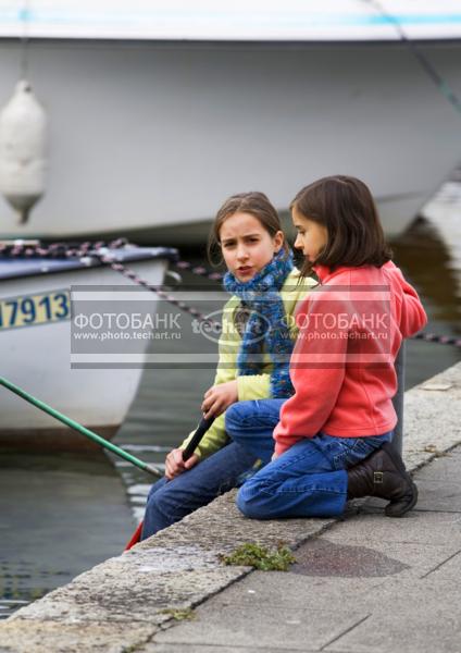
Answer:
<path fill-rule="evenodd" d="M 152 284 L 161 284 L 166 259 L 129 263 Z M 109 268 L 96 268 L 2 281 L 0 299 L 70 289 L 71 285 L 132 286 Z M 154 297 L 154 296 L 152 296 Z M 149 303 L 149 307 L 154 308 Z M 71 369 L 71 320 L 0 331 L 2 375 L 29 394 L 112 436 L 123 422 L 136 394 L 141 367 L 134 369 Z M 0 389 L 0 446 L 83 448 L 77 434 L 5 389 Z"/>

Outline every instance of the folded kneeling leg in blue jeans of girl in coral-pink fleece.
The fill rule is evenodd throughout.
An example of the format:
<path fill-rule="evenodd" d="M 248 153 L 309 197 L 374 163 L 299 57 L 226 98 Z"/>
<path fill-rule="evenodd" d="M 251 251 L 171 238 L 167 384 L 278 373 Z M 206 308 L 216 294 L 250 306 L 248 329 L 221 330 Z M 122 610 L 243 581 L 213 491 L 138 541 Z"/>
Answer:
<path fill-rule="evenodd" d="M 393 432 L 361 438 L 319 433 L 300 440 L 240 488 L 237 506 L 253 519 L 341 515 L 346 470 L 391 438 Z"/>

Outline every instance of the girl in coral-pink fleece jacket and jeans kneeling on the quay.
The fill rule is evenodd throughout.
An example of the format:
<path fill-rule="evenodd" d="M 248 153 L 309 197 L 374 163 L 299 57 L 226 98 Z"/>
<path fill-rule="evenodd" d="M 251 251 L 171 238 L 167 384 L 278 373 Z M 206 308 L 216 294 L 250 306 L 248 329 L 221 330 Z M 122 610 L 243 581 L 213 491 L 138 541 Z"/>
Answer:
<path fill-rule="evenodd" d="M 274 456 L 241 486 L 237 505 L 257 519 L 327 517 L 340 515 L 348 498 L 373 495 L 388 500 L 387 516 L 401 517 L 418 490 L 391 445 L 394 364 L 402 338 L 420 331 L 426 315 L 390 261 L 365 184 L 324 177 L 290 208 L 302 273 L 314 271 L 320 283 L 297 310 L 295 394 L 282 406 Z M 248 438 L 271 402 L 228 409 L 229 435 L 238 440 L 240 429 Z"/>

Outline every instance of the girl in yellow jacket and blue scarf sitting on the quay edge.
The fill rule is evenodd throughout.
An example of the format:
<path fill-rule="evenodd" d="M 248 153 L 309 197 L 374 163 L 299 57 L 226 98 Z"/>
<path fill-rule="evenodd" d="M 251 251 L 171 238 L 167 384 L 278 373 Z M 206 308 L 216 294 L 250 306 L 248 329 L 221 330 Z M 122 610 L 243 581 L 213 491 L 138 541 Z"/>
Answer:
<path fill-rule="evenodd" d="M 315 285 L 300 279 L 281 229 L 278 214 L 262 193 L 229 197 L 219 210 L 210 239 L 227 267 L 224 287 L 232 297 L 223 310 L 219 365 L 203 398 L 205 417 L 216 419 L 192 456 L 183 460 L 186 439 L 165 460 L 165 477 L 149 494 L 141 539 L 178 521 L 237 484 L 239 477 L 273 453 L 267 428 L 275 427 L 282 404 L 292 394 L 289 358 L 296 340 L 294 312 Z M 224 414 L 236 402 L 277 399 L 251 424 L 251 438 L 232 442 Z M 189 435 L 190 438 L 190 435 Z"/>

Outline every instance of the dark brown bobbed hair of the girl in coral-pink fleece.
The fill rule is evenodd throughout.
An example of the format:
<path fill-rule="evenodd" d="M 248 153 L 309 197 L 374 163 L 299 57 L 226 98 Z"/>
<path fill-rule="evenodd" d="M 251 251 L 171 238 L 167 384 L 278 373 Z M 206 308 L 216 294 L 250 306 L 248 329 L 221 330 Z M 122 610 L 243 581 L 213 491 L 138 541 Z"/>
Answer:
<path fill-rule="evenodd" d="M 393 257 L 370 188 L 360 180 L 335 175 L 323 177 L 302 188 L 290 204 L 308 218 L 326 227 L 328 239 L 313 263 L 306 259 L 301 274 L 312 266 L 375 266 L 381 268 Z"/>

